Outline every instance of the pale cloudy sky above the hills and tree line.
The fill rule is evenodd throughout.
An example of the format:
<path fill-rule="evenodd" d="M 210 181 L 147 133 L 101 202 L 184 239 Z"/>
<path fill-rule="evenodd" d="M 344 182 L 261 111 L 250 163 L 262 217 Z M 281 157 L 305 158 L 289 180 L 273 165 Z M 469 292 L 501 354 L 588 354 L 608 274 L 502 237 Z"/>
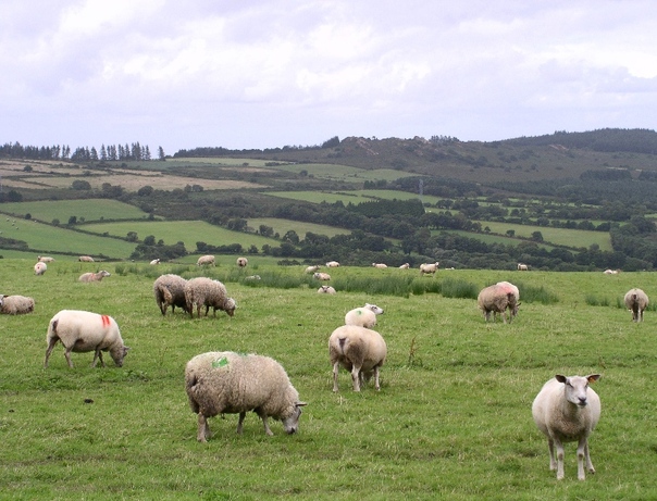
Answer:
<path fill-rule="evenodd" d="M 653 0 L 2 0 L 0 143 L 655 129 Z"/>

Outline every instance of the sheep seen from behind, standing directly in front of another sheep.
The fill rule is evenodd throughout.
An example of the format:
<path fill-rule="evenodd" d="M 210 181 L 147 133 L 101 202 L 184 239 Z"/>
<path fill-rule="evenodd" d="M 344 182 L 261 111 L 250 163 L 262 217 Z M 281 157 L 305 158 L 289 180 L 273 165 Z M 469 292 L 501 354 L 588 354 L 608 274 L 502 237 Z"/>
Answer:
<path fill-rule="evenodd" d="M 333 391 L 337 391 L 337 373 L 340 365 L 351 372 L 354 391 L 374 374 L 374 386 L 379 391 L 379 368 L 385 362 L 387 347 L 376 331 L 359 325 L 343 325 L 328 338 L 328 356 L 333 365 Z"/>

